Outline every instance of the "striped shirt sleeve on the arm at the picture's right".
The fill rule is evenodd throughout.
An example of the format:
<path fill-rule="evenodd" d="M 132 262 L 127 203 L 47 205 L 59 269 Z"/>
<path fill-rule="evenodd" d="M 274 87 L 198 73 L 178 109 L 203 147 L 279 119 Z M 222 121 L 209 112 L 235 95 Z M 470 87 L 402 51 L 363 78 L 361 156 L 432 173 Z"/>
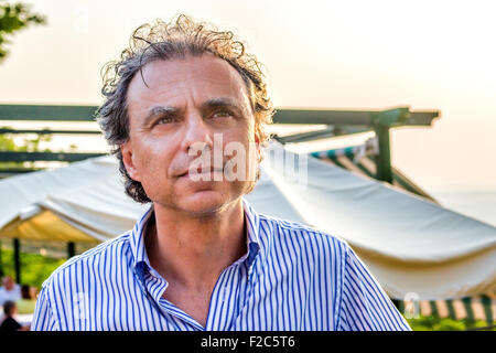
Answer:
<path fill-rule="evenodd" d="M 338 331 L 411 331 L 378 281 L 346 246 Z"/>

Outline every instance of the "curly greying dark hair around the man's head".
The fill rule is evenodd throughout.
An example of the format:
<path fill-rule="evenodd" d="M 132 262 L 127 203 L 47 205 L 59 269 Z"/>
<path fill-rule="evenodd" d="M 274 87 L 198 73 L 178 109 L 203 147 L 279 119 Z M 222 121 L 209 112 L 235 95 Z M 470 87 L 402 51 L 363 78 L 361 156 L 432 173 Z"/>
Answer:
<path fill-rule="evenodd" d="M 152 61 L 200 56 L 204 53 L 225 60 L 240 74 L 250 95 L 255 130 L 261 146 L 266 147 L 270 139 L 266 127 L 272 122 L 273 107 L 263 81 L 262 65 L 255 55 L 245 52 L 245 44 L 235 39 L 233 32 L 218 31 L 214 25 L 195 22 L 185 14 L 176 15 L 170 22 L 155 20 L 154 23 L 143 24 L 132 33 L 120 60 L 104 66 L 101 94 L 105 101 L 97 110 L 97 121 L 112 147 L 111 152 L 119 160 L 126 193 L 137 202 L 147 203 L 151 200 L 141 183 L 129 176 L 120 151 L 120 146 L 129 139 L 129 84 L 138 72 L 142 75 L 142 67 Z M 259 178 L 260 170 L 257 171 L 256 181 Z"/>

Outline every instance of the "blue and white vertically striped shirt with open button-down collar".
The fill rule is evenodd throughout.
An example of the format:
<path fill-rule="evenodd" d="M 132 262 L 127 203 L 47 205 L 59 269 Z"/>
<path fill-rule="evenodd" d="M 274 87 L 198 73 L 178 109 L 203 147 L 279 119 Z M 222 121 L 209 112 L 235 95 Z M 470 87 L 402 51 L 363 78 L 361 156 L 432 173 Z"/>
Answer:
<path fill-rule="evenodd" d="M 242 205 L 247 253 L 218 277 L 205 327 L 163 298 L 144 247 L 150 207 L 50 276 L 32 330 L 410 330 L 345 240 Z"/>

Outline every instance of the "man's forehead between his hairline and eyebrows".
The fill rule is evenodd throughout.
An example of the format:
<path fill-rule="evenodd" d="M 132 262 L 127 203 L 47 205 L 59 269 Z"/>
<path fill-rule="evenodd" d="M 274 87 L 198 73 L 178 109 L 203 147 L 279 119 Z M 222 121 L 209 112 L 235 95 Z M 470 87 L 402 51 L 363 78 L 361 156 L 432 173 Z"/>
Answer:
<path fill-rule="evenodd" d="M 143 81 L 144 79 L 144 81 Z M 157 104 L 183 105 L 229 97 L 249 104 L 248 88 L 240 74 L 226 61 L 212 54 L 157 60 L 138 72 L 128 88 L 128 107 L 144 109 Z"/>

